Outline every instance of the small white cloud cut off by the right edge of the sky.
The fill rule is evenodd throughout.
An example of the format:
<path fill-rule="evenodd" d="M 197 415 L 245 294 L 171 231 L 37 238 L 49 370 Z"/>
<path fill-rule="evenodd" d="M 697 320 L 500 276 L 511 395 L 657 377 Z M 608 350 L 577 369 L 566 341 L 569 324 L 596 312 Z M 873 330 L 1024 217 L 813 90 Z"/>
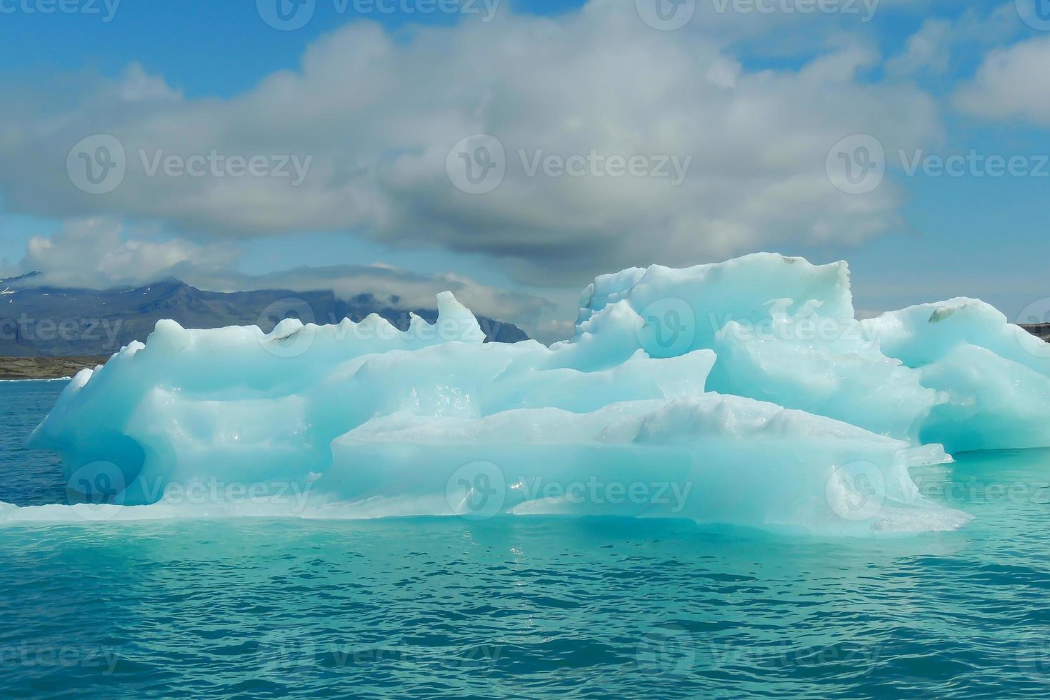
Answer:
<path fill-rule="evenodd" d="M 989 120 L 1050 126 L 1050 37 L 991 51 L 956 93 L 957 106 Z"/>

